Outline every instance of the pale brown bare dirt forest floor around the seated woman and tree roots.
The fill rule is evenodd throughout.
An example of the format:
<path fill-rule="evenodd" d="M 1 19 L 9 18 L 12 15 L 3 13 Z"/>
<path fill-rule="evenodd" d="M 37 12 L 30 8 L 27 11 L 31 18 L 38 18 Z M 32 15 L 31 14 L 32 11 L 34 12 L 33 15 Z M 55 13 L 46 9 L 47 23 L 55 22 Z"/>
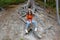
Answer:
<path fill-rule="evenodd" d="M 19 19 L 17 13 L 18 8 L 20 8 L 20 5 L 14 5 L 14 7 L 0 12 L 0 40 L 38 40 L 33 34 L 24 35 L 25 24 Z M 40 13 L 46 12 L 40 11 Z M 44 37 L 39 40 L 60 40 L 60 26 L 57 21 L 43 14 L 39 16 L 43 19 L 46 27 L 53 26 L 52 29 L 47 30 Z M 43 16 L 46 16 L 46 18 Z M 40 26 L 42 25 L 39 24 L 39 27 Z"/>

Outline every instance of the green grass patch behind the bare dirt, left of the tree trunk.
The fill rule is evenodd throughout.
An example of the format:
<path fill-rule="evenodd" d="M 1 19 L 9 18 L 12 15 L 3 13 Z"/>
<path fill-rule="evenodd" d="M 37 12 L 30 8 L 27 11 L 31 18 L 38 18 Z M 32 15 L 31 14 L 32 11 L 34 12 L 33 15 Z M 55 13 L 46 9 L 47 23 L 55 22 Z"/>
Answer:
<path fill-rule="evenodd" d="M 11 4 L 19 4 L 25 1 L 26 0 L 0 0 L 0 7 L 6 7 Z"/>

